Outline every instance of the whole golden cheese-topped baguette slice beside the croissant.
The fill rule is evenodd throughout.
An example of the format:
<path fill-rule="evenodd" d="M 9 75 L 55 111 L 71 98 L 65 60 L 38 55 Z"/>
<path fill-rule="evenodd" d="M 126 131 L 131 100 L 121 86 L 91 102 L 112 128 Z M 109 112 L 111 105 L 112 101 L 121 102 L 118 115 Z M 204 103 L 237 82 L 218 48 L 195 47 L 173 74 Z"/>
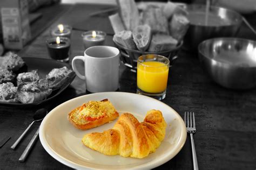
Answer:
<path fill-rule="evenodd" d="M 116 119 L 119 116 L 116 109 L 114 109 L 112 103 L 110 103 L 109 100 L 105 99 L 105 100 L 102 100 L 102 101 L 99 101 L 99 102 L 108 102 L 108 103 L 110 103 L 111 108 L 113 108 L 112 112 L 109 113 L 109 114 L 106 114 L 102 118 L 98 118 L 98 119 L 93 120 L 93 121 L 85 121 L 83 118 L 86 115 L 81 115 L 80 112 L 83 109 L 86 109 L 86 107 L 88 107 L 90 102 L 96 102 L 96 101 L 89 101 L 89 102 L 83 104 L 82 106 L 73 109 L 68 115 L 68 120 L 77 129 L 86 130 L 86 129 L 95 128 L 95 127 L 103 125 L 105 123 L 109 123 L 110 121 L 113 121 L 114 119 Z M 98 105 L 96 105 L 96 108 L 98 108 Z M 109 109 L 109 107 L 106 107 L 105 109 L 107 111 L 107 109 Z M 91 114 L 90 109 L 89 109 L 89 114 Z M 96 114 L 98 114 L 98 112 L 96 112 Z"/>

